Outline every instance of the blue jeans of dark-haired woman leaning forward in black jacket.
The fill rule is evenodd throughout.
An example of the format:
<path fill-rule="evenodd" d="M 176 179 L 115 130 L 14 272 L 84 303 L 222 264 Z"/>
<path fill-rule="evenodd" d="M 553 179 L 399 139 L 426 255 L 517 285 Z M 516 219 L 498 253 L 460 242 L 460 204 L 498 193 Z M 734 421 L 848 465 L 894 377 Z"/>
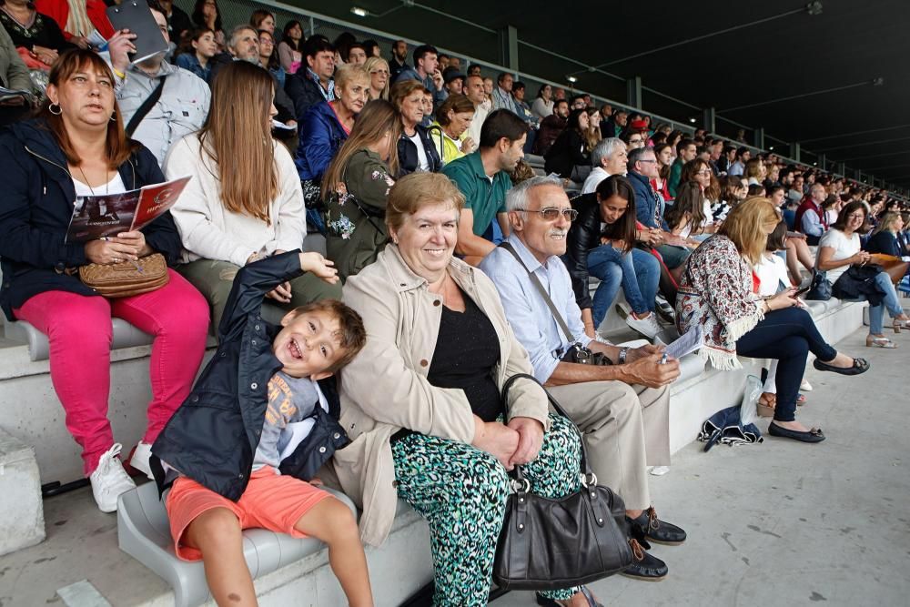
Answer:
<path fill-rule="evenodd" d="M 591 276 L 601 279 L 594 291 L 591 309 L 594 327 L 599 327 L 607 315 L 621 284 L 635 314 L 646 314 L 654 309 L 661 265 L 651 253 L 638 248 L 623 253 L 611 245 L 602 245 L 588 252 L 588 271 Z"/>

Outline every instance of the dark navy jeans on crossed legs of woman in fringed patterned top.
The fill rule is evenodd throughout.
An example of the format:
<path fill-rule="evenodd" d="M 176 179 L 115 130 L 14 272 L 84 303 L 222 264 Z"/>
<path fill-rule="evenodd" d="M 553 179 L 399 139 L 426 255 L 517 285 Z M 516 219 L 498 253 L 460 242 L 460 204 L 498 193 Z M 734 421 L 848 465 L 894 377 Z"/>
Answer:
<path fill-rule="evenodd" d="M 751 359 L 777 359 L 774 420 L 796 419 L 796 397 L 810 351 L 822 362 L 837 356 L 837 350 L 818 332 L 812 316 L 801 308 L 768 312 L 761 322 L 736 341 L 737 354 Z"/>

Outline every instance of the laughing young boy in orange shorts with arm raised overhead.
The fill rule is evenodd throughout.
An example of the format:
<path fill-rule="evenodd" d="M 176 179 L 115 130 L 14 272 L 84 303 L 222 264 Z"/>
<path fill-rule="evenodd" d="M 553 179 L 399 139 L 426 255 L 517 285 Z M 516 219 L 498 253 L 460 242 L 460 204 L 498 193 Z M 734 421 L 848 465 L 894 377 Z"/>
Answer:
<path fill-rule="evenodd" d="M 362 321 L 334 300 L 294 309 L 280 327 L 260 313 L 304 271 L 337 282 L 332 265 L 295 251 L 239 270 L 217 352 L 152 446 L 159 488 L 176 479 L 166 507 L 177 557 L 204 561 L 219 605 L 257 604 L 241 535 L 254 527 L 325 541 L 350 605 L 373 604 L 357 521 L 313 479 L 348 444 L 327 380 L 363 348 Z"/>

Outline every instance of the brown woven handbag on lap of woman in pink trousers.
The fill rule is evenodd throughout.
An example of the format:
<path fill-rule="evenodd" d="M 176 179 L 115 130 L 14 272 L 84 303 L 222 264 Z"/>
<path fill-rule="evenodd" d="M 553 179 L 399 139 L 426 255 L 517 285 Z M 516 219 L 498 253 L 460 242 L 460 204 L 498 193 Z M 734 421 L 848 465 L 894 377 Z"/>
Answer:
<path fill-rule="evenodd" d="M 79 279 L 106 298 L 128 298 L 167 285 L 167 262 L 160 253 L 152 253 L 135 262 L 113 265 L 88 264 L 79 268 Z"/>

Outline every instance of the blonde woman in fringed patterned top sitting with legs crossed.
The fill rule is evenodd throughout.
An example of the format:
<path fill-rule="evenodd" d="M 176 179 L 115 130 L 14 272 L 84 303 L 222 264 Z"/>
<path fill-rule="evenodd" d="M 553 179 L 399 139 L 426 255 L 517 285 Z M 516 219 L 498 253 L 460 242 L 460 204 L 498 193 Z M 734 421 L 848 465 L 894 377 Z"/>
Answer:
<path fill-rule="evenodd" d="M 869 369 L 827 344 L 812 317 L 787 288 L 761 298 L 755 267 L 762 261 L 768 235 L 780 218 L 768 198 L 755 197 L 733 208 L 717 234 L 689 257 L 676 298 L 680 332 L 700 326 L 700 355 L 715 369 L 741 369 L 737 356 L 776 359 L 777 404 L 768 428 L 772 436 L 821 442 L 822 430 L 796 421 L 796 399 L 811 351 L 815 369 L 858 375 Z"/>

